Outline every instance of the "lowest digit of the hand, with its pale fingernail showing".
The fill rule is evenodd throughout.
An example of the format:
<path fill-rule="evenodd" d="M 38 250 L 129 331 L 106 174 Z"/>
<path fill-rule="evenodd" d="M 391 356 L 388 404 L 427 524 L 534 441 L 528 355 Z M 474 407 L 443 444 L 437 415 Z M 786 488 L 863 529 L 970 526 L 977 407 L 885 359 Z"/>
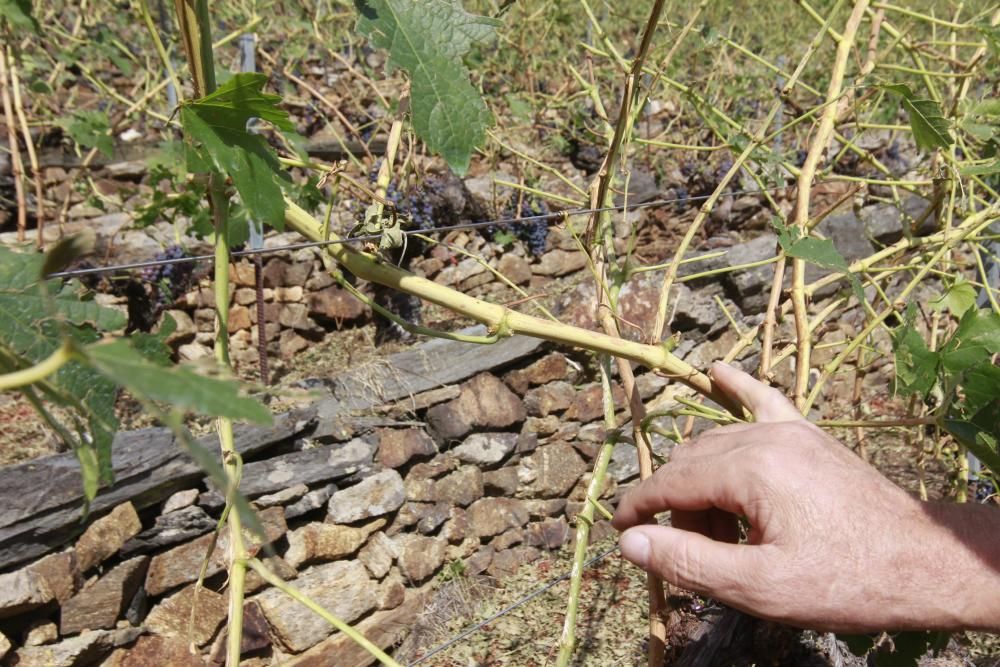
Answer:
<path fill-rule="evenodd" d="M 619 539 L 622 555 L 675 586 L 723 602 L 738 597 L 752 580 L 760 547 L 716 542 L 670 526 L 630 528 Z"/>

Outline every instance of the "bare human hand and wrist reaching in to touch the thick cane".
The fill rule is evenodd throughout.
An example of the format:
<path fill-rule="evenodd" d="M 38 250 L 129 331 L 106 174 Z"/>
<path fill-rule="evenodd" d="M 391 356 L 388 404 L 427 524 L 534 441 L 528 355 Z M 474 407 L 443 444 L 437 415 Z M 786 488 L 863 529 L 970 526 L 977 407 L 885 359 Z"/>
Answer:
<path fill-rule="evenodd" d="M 996 603 L 983 607 L 985 590 L 962 594 L 970 571 L 1000 590 L 997 540 L 973 544 L 968 513 L 909 496 L 778 390 L 724 364 L 712 375 L 756 422 L 677 447 L 626 495 L 613 522 L 625 531 L 622 555 L 677 586 L 801 627 L 1000 624 Z M 996 511 L 966 509 L 996 528 Z M 672 526 L 644 525 L 666 510 Z M 738 516 L 751 526 L 749 544 L 737 544 Z"/>

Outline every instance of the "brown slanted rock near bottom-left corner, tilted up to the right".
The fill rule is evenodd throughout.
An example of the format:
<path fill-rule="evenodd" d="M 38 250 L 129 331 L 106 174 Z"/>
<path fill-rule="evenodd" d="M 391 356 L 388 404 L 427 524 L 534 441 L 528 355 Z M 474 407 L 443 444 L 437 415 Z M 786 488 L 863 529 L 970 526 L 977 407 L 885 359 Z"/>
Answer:
<path fill-rule="evenodd" d="M 67 600 L 62 605 L 59 632 L 74 635 L 84 630 L 115 627 L 142 583 L 148 565 L 148 556 L 127 560 Z"/>

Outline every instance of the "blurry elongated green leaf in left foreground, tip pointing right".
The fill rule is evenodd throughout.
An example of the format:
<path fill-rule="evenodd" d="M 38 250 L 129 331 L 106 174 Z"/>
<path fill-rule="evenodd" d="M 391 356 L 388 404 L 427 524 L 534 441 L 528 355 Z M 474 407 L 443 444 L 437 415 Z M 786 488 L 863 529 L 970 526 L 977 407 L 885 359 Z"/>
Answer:
<path fill-rule="evenodd" d="M 271 413 L 264 405 L 240 395 L 238 382 L 150 362 L 126 340 L 89 345 L 83 356 L 101 374 L 147 400 L 212 417 L 271 422 Z"/>

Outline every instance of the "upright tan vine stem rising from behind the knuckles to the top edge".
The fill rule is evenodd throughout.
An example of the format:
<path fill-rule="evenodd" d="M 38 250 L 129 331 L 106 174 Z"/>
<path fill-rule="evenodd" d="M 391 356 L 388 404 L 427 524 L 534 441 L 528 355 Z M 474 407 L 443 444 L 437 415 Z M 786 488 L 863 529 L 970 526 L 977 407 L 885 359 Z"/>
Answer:
<path fill-rule="evenodd" d="M 809 206 L 812 195 L 812 182 L 816 175 L 816 167 L 826 153 L 827 145 L 833 136 L 834 124 L 837 120 L 839 106 L 834 102 L 841 96 L 844 85 L 844 73 L 847 69 L 847 58 L 854 46 L 854 37 L 868 9 L 868 0 L 858 0 L 854 4 L 844 32 L 837 41 L 837 53 L 834 56 L 833 69 L 830 72 L 830 86 L 826 93 L 827 106 L 820 117 L 816 135 L 809 145 L 805 163 L 799 172 L 797 198 L 795 203 L 794 224 L 803 235 L 808 234 Z M 809 331 L 809 313 L 805 294 L 806 263 L 804 259 L 792 259 L 792 311 L 795 317 L 795 337 L 798 345 L 798 355 L 795 363 L 795 388 L 793 396 L 795 405 L 805 412 L 806 390 L 809 385 L 809 362 L 812 353 L 812 337 Z M 780 287 L 780 286 L 779 286 Z"/>

